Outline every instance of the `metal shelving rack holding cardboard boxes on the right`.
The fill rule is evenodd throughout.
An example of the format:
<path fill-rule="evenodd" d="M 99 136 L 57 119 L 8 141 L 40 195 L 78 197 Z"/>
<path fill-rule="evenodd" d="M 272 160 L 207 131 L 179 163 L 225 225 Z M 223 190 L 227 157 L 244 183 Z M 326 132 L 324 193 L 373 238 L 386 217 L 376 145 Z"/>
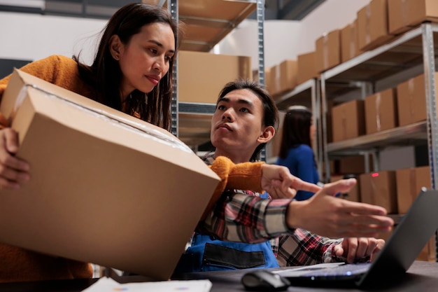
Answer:
<path fill-rule="evenodd" d="M 381 148 L 393 145 L 427 143 L 432 188 L 438 182 L 438 122 L 437 88 L 435 87 L 435 60 L 438 57 L 438 25 L 423 22 L 421 26 L 398 36 L 389 43 L 367 51 L 337 67 L 321 74 L 321 106 L 323 121 L 324 161 L 337 155 L 360 154 L 372 151 L 374 166 L 379 165 L 378 153 Z M 427 117 L 424 122 L 397 127 L 395 129 L 327 144 L 327 101 L 337 95 L 344 95 L 354 86 L 362 89 L 362 98 L 374 92 L 394 87 L 419 74 L 425 75 L 425 95 Z M 338 84 L 337 90 L 330 92 L 330 84 Z M 345 86 L 342 86 L 345 85 Z M 350 85 L 350 86 L 348 86 Z M 367 161 L 366 161 L 367 162 Z M 325 163 L 326 174 L 330 178 L 330 165 Z M 378 170 L 378 169 L 375 169 Z M 328 181 L 326 177 L 326 181 Z M 436 260 L 438 261 L 438 233 L 435 233 Z"/>

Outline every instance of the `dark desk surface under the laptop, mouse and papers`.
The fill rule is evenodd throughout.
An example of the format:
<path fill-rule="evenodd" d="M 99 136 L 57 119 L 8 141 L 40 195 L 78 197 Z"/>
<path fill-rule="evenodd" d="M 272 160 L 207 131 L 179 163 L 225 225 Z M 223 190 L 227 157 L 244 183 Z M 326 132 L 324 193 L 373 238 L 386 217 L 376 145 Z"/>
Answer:
<path fill-rule="evenodd" d="M 188 279 L 210 279 L 213 283 L 211 292 L 237 292 L 245 291 L 240 283 L 242 274 L 245 270 L 231 270 L 223 272 L 202 272 L 188 274 Z M 127 283 L 132 281 L 145 281 L 146 278 L 139 276 L 118 277 L 115 280 Z M 39 281 L 23 283 L 0 284 L 0 291 L 8 292 L 79 292 L 93 284 L 97 279 L 75 279 L 57 281 Z M 435 292 L 438 287 L 438 263 L 416 261 L 409 268 L 407 274 L 397 281 L 386 284 L 379 284 L 375 291 L 403 292 L 403 291 L 422 291 Z M 358 289 L 346 288 L 309 288 L 291 286 L 288 291 L 360 291 Z M 362 290 L 363 291 L 363 290 Z M 368 289 L 367 291 L 373 291 Z"/>

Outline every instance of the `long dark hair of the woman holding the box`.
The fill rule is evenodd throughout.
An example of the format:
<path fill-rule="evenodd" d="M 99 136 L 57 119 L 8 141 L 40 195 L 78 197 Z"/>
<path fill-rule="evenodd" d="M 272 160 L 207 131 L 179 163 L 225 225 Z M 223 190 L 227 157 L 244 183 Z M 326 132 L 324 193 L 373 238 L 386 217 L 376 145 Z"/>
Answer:
<path fill-rule="evenodd" d="M 98 102 L 122 111 L 120 97 L 120 83 L 122 71 L 117 60 L 110 53 L 111 36 L 119 36 L 122 43 L 128 43 L 134 34 L 141 31 L 141 27 L 155 22 L 168 24 L 175 36 L 176 50 L 181 39 L 181 30 L 166 8 L 149 4 L 134 3 L 120 8 L 108 21 L 99 47 L 91 67 L 81 64 L 78 57 L 79 74 L 83 80 L 95 88 L 95 98 Z M 177 52 L 175 52 L 176 56 Z M 160 80 L 160 83 L 147 94 L 134 90 L 127 99 L 125 112 L 139 113 L 142 120 L 164 127 L 169 130 L 171 124 L 170 105 L 173 91 L 174 58 L 170 60 L 169 71 Z M 147 102 L 146 102 L 147 99 Z"/>

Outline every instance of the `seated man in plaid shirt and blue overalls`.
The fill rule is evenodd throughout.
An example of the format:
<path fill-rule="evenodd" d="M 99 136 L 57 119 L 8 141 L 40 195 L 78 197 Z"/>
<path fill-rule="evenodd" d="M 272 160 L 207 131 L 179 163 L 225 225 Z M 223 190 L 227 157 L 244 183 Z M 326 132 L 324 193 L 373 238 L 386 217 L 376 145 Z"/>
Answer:
<path fill-rule="evenodd" d="M 216 151 L 205 155 L 204 161 L 208 165 L 223 157 L 236 164 L 256 161 L 264 144 L 274 137 L 277 123 L 278 110 L 269 94 L 257 83 L 236 81 L 225 85 L 211 123 L 211 142 Z M 250 181 L 252 179 L 248 176 Z M 354 184 L 354 179 L 327 184 L 304 202 L 279 199 L 278 194 L 283 192 L 277 194 L 276 190 L 281 186 L 271 188 L 270 195 L 274 200 L 267 200 L 261 192 L 252 190 L 225 190 L 213 212 L 199 223 L 191 246 L 178 263 L 176 274 L 278 267 L 278 263 L 310 265 L 369 260 L 381 250 L 384 241 L 366 236 L 375 235 L 378 230 L 374 225 L 377 221 L 367 214 L 377 211 L 384 217 L 386 211 L 381 207 L 332 197 L 340 191 L 348 191 Z M 360 220 L 352 221 L 353 216 Z M 393 221 L 380 219 L 386 222 L 380 230 L 390 230 Z M 300 228 L 328 235 L 359 235 L 361 238 L 330 239 Z M 281 236 L 279 253 L 276 248 L 278 236 Z M 272 238 L 276 239 L 273 245 L 267 241 Z"/>

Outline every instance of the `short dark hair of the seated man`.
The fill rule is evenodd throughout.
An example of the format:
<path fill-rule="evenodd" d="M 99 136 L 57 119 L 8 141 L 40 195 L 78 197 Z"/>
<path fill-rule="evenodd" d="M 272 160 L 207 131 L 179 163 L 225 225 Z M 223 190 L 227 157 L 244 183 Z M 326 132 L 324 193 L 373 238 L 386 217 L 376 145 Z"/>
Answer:
<path fill-rule="evenodd" d="M 218 104 L 220 99 L 222 99 L 222 97 L 225 97 L 225 95 L 227 95 L 229 92 L 239 89 L 248 89 L 252 91 L 255 95 L 257 95 L 257 97 L 260 98 L 263 104 L 262 125 L 264 125 L 264 127 L 272 126 L 274 127 L 275 130 L 277 130 L 278 127 L 277 106 L 274 100 L 272 99 L 271 95 L 269 95 L 269 92 L 267 92 L 267 90 L 262 88 L 262 86 L 255 81 L 250 81 L 248 79 L 246 80 L 237 79 L 236 81 L 227 83 L 225 87 L 222 88 L 222 90 L 220 91 L 218 101 L 216 102 L 216 104 Z M 255 148 L 255 151 L 250 158 L 251 162 L 259 160 L 260 151 L 262 151 L 262 148 L 264 147 L 265 144 L 266 143 L 260 144 L 259 146 L 257 146 L 257 148 Z"/>

